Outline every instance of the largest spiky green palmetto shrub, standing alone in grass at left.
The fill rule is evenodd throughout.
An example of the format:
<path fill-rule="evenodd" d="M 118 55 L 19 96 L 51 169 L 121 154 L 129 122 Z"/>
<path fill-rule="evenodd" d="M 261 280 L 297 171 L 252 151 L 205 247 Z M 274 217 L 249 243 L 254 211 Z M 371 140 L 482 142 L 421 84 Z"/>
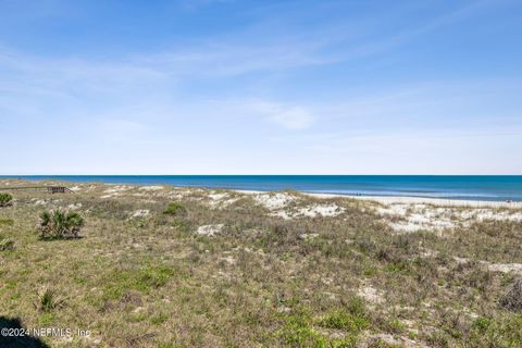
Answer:
<path fill-rule="evenodd" d="M 42 239 L 76 238 L 84 219 L 75 211 L 45 211 L 37 226 Z"/>

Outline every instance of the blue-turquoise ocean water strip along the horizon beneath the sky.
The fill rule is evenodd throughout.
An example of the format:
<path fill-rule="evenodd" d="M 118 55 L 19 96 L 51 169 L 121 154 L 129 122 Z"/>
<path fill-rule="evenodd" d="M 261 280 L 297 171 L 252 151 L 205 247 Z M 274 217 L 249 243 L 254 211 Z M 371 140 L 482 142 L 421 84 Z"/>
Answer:
<path fill-rule="evenodd" d="M 522 175 L 30 175 L 29 181 L 522 201 Z"/>

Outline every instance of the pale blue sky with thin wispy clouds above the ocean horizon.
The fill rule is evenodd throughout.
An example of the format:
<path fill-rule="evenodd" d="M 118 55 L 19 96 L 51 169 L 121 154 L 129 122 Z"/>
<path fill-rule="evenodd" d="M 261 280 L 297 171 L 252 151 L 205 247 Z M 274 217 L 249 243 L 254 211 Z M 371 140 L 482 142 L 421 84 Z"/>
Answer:
<path fill-rule="evenodd" d="M 0 0 L 0 174 L 522 174 L 520 0 Z"/>

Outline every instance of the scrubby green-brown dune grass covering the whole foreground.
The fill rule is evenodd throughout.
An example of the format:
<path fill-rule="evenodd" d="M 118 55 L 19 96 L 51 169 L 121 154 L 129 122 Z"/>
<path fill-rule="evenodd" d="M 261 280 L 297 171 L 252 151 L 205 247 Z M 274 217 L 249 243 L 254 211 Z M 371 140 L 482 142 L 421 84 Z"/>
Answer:
<path fill-rule="evenodd" d="M 522 347 L 520 221 L 403 233 L 366 201 L 283 192 L 343 209 L 284 219 L 238 192 L 78 187 L 0 210 L 2 315 L 91 332 L 50 347 Z"/>

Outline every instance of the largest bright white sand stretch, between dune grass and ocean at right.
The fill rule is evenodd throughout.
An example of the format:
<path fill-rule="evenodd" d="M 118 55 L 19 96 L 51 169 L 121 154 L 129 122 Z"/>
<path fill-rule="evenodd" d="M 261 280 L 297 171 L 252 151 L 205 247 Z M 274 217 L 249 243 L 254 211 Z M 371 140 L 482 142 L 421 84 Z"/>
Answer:
<path fill-rule="evenodd" d="M 288 192 L 238 190 L 253 195 L 254 200 L 271 210 L 272 216 L 283 219 L 336 216 L 344 212 L 335 203 L 315 203 L 308 207 L 288 207 L 299 199 Z M 397 232 L 444 231 L 469 226 L 475 221 L 522 221 L 522 202 L 468 201 L 419 197 L 370 197 L 330 194 L 303 194 L 319 199 L 357 199 L 371 203 L 370 208 Z M 373 204 L 373 207 L 372 207 Z M 399 219 L 396 219 L 399 217 Z"/>

